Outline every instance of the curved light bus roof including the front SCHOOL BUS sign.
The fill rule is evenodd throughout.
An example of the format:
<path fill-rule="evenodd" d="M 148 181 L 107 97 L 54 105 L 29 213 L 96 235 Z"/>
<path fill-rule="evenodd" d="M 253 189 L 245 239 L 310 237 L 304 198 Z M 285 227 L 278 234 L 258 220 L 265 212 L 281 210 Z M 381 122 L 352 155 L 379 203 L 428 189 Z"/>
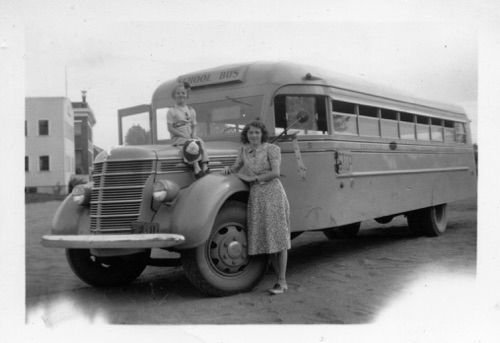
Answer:
<path fill-rule="evenodd" d="M 243 81 L 245 87 L 257 85 L 275 85 L 276 87 L 280 87 L 291 84 L 321 85 L 465 115 L 463 108 L 457 105 L 412 97 L 387 86 L 374 84 L 360 78 L 332 72 L 320 67 L 284 61 L 226 64 L 180 75 L 176 79 L 162 83 L 155 90 L 152 99 L 153 103 L 171 99 L 171 92 L 174 85 L 181 81 L 189 82 L 193 90 L 197 88 L 208 90 L 212 86 L 222 85 L 232 85 L 234 87 L 238 83 L 242 84 Z"/>

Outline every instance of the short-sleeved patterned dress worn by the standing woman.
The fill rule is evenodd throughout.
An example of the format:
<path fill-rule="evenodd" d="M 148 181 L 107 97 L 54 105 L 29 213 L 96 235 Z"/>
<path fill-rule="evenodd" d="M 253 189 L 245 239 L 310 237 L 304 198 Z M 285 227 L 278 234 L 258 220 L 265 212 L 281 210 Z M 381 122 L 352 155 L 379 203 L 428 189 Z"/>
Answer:
<path fill-rule="evenodd" d="M 253 149 L 240 147 L 234 168 L 245 167 L 255 177 L 280 165 L 281 150 L 277 145 L 264 143 Z M 290 249 L 290 205 L 285 189 L 278 178 L 253 184 L 247 210 L 248 254 L 271 254 Z"/>

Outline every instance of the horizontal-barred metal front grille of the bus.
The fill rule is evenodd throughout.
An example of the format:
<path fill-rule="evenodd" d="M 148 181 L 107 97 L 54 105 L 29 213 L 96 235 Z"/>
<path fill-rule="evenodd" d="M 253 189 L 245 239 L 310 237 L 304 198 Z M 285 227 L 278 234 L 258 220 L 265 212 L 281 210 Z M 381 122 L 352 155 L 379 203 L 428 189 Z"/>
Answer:
<path fill-rule="evenodd" d="M 140 214 L 142 191 L 154 172 L 153 160 L 96 163 L 90 200 L 90 231 L 128 233 Z"/>

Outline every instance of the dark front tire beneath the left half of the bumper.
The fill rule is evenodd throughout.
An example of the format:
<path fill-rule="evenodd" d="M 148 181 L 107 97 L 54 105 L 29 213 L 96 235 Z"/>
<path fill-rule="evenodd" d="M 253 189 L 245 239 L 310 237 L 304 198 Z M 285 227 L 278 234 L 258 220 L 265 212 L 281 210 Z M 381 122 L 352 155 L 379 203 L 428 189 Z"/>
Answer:
<path fill-rule="evenodd" d="M 95 287 L 122 286 L 131 283 L 146 269 L 148 253 L 98 257 L 89 249 L 67 249 L 66 259 L 83 282 Z"/>

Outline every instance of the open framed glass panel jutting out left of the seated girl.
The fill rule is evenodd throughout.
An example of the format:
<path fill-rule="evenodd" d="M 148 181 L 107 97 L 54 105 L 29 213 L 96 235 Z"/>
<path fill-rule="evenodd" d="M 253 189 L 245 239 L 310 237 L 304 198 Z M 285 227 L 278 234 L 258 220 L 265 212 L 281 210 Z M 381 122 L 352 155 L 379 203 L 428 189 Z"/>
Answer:
<path fill-rule="evenodd" d="M 118 110 L 118 141 L 120 145 L 153 144 L 153 115 L 150 105 Z"/>

